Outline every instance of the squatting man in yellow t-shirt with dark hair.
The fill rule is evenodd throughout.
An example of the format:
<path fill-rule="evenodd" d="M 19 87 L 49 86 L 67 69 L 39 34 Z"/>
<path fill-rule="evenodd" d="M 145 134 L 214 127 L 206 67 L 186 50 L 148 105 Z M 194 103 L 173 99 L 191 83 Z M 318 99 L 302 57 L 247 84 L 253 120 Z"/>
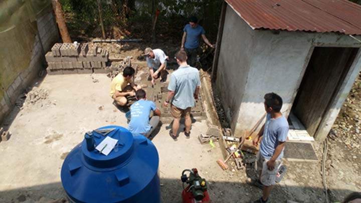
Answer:
<path fill-rule="evenodd" d="M 134 72 L 132 67 L 125 67 L 123 74 L 118 74 L 111 82 L 110 96 L 119 106 L 125 106 L 128 102 L 127 97 L 135 96 L 135 91 L 141 89 L 140 85 L 134 84 L 131 80 Z"/>

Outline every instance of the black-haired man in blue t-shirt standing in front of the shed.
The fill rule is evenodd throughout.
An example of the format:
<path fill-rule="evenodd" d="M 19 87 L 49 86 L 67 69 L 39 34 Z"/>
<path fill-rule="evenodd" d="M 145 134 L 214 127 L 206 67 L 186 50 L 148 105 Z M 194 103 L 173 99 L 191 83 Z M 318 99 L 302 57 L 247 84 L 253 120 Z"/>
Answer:
<path fill-rule="evenodd" d="M 275 184 L 277 168 L 281 164 L 283 149 L 288 135 L 288 122 L 282 115 L 282 98 L 275 93 L 264 96 L 264 107 L 267 112 L 266 122 L 258 136 L 253 139 L 253 144 L 258 145 L 258 140 L 263 136 L 260 151 L 257 154 L 256 168 L 262 184 L 263 195 L 255 202 L 267 202 L 272 186 Z"/>

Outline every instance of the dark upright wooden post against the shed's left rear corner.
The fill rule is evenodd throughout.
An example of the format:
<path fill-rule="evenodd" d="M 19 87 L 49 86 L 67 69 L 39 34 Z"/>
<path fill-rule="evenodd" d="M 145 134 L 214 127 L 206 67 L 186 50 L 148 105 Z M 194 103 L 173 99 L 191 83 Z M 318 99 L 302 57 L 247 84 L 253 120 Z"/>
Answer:
<path fill-rule="evenodd" d="M 217 79 L 217 69 L 218 69 L 218 59 L 219 59 L 219 52 L 221 50 L 221 42 L 222 42 L 222 35 L 223 35 L 223 28 L 224 28 L 224 21 L 226 17 L 226 9 L 227 3 L 223 1 L 222 3 L 222 11 L 221 17 L 218 24 L 218 34 L 217 34 L 217 42 L 216 42 L 216 52 L 213 58 L 213 66 L 212 66 L 212 81 L 216 81 Z"/>

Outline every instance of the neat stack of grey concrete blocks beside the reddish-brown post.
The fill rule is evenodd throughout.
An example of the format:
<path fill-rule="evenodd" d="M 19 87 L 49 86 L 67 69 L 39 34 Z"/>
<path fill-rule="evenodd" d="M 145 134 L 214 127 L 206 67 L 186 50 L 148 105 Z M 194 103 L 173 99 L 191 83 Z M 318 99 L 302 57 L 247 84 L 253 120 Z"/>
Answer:
<path fill-rule="evenodd" d="M 56 43 L 45 58 L 51 75 L 110 72 L 108 51 L 94 44 Z"/>

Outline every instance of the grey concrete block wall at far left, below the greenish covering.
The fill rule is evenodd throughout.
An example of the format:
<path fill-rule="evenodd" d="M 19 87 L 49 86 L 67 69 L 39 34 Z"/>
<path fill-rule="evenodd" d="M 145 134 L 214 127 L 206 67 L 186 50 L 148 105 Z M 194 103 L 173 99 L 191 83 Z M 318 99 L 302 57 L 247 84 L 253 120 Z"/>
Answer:
<path fill-rule="evenodd" d="M 0 123 L 12 111 L 17 98 L 25 88 L 32 85 L 40 70 L 44 69 L 44 53 L 46 53 L 59 39 L 58 27 L 53 13 L 48 13 L 37 20 L 39 36 L 35 36 L 31 61 L 29 67 L 19 73 L 13 84 L 5 91 L 4 98 L 0 101 Z M 29 33 L 29 35 L 33 35 Z M 43 50 L 44 49 L 44 50 Z"/>

